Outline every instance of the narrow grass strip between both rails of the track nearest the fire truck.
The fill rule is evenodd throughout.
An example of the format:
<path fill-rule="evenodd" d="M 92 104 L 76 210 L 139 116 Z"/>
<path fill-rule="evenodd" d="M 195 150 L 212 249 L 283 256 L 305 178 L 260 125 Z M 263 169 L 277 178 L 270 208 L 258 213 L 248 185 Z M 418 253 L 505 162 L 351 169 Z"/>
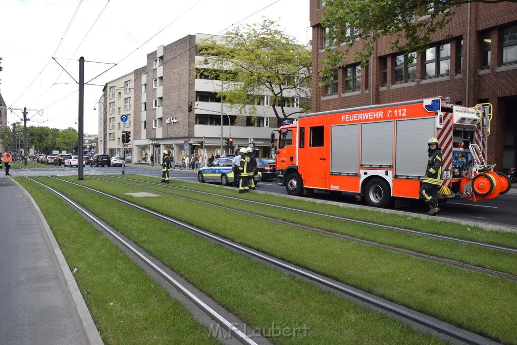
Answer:
<path fill-rule="evenodd" d="M 70 179 L 70 177 L 67 179 Z M 120 179 L 110 176 L 105 176 L 104 179 L 114 182 L 120 181 Z M 135 187 L 164 191 L 173 195 L 193 198 L 225 207 L 239 209 L 240 211 L 247 211 L 253 214 L 260 214 L 275 219 L 290 221 L 303 226 L 312 227 L 314 224 L 317 224 L 317 228 L 329 232 L 349 235 L 360 239 L 367 239 L 368 241 L 388 246 L 414 250 L 420 253 L 437 256 L 439 258 L 457 260 L 467 264 L 496 269 L 501 272 L 517 274 L 517 255 L 509 252 L 501 252 L 499 250 L 482 248 L 474 245 L 397 232 L 394 230 L 382 229 L 339 219 L 330 219 L 320 215 L 300 213 L 297 212 L 296 209 L 286 212 L 285 209 L 275 206 L 242 202 L 241 199 L 233 200 L 228 198 L 219 198 L 217 196 L 204 193 L 193 193 L 192 191 L 183 189 L 164 188 L 159 184 L 149 185 L 138 181 L 128 181 L 127 183 L 130 183 Z M 332 209 L 336 207 L 334 205 L 320 206 L 319 212 L 323 214 L 331 214 Z M 371 221 L 376 221 L 380 216 L 384 216 L 384 214 L 381 214 L 380 216 L 377 214 L 375 216 L 376 218 L 371 219 Z M 440 226 L 440 224 L 436 222 L 434 227 L 436 226 Z"/>

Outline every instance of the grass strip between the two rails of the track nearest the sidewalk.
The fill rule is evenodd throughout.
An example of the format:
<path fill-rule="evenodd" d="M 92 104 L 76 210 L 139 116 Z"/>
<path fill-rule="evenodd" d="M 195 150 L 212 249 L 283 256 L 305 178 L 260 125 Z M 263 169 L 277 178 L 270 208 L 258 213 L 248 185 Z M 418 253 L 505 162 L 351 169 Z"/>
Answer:
<path fill-rule="evenodd" d="M 64 192 L 112 223 L 132 241 L 237 313 L 243 321 L 262 329 L 266 335 L 269 333 L 276 343 L 439 342 L 380 313 L 286 276 L 131 207 L 50 178 L 38 180 Z M 192 208 L 183 208 L 170 199 L 140 199 L 160 199 L 161 208 L 195 213 Z M 123 226 L 114 215 L 124 215 Z M 199 218 L 199 214 L 197 216 Z M 208 212 L 203 219 L 210 221 L 211 216 L 216 214 Z M 295 332 L 296 336 L 293 335 Z"/>

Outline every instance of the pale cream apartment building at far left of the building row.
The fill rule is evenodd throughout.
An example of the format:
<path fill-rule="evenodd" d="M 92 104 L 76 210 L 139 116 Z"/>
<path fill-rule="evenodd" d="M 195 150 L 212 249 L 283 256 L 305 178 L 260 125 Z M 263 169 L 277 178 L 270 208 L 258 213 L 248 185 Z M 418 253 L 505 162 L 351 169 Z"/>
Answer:
<path fill-rule="evenodd" d="M 132 161 L 133 136 L 131 142 L 124 145 L 124 155 L 121 137 L 123 131 L 133 133 L 133 81 L 134 74 L 131 72 L 107 82 L 102 90 L 103 101 L 98 102 L 98 105 L 102 105 L 99 107 L 99 144 L 103 146 L 103 152 L 97 153 L 126 157 L 127 162 Z"/>

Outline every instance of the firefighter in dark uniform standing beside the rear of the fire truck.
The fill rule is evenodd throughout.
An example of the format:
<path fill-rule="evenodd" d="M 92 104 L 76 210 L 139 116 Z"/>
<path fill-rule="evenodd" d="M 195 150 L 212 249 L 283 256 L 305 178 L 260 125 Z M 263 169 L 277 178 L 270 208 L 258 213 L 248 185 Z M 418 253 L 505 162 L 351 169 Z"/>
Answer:
<path fill-rule="evenodd" d="M 432 216 L 440 211 L 438 207 L 438 188 L 442 184 L 442 149 L 438 147 L 436 138 L 429 139 L 428 146 L 427 171 L 418 193 L 420 198 L 429 204 L 430 209 L 427 214 Z"/>

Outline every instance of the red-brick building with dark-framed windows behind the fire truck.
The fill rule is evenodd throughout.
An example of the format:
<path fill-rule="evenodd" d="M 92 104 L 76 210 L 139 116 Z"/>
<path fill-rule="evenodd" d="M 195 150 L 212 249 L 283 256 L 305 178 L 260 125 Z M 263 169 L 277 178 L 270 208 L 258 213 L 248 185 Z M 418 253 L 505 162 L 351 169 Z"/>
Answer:
<path fill-rule="evenodd" d="M 311 0 L 313 112 L 435 96 L 467 107 L 490 102 L 489 162 L 496 171 L 517 162 L 517 4 L 464 4 L 433 34 L 427 52 L 415 54 L 415 61 L 405 63 L 384 38 L 369 66 L 361 68 L 351 54 L 333 79 L 320 86 L 320 60 L 329 43 L 321 25 L 324 12 L 325 1 Z"/>

